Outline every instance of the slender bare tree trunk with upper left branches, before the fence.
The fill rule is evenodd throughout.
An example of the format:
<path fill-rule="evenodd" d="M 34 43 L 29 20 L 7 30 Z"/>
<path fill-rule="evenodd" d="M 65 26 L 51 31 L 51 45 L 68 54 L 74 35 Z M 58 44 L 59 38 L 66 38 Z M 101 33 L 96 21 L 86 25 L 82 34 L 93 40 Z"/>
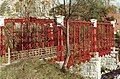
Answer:
<path fill-rule="evenodd" d="M 64 63 L 62 66 L 62 71 L 66 72 L 67 69 L 67 64 L 70 58 L 70 43 L 69 43 L 69 19 L 71 17 L 71 8 L 72 8 L 72 1 L 69 0 L 69 3 L 67 4 L 66 0 L 63 0 L 64 4 L 61 4 L 60 6 L 56 6 L 55 8 L 52 8 L 50 11 L 50 15 L 52 15 L 54 17 L 54 19 L 56 20 L 56 16 L 55 15 L 63 15 L 65 18 L 65 25 L 62 26 L 61 28 L 65 31 L 66 33 L 66 53 L 65 53 L 65 59 L 64 59 Z M 67 4 L 67 7 L 66 7 Z M 57 10 L 58 9 L 58 12 Z M 57 22 L 57 21 L 55 21 Z"/>

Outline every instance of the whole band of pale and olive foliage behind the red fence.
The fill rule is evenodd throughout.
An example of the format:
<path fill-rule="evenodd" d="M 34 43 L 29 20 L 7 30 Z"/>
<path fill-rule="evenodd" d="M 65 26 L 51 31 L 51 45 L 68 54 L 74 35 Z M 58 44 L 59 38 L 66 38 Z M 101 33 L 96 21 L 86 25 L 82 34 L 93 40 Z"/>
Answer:
<path fill-rule="evenodd" d="M 117 7 L 113 5 L 108 5 L 109 2 L 110 0 L 74 0 L 72 1 L 69 18 L 87 21 L 91 18 L 95 18 L 98 21 L 104 21 L 109 13 L 116 12 Z M 10 18 L 29 16 L 45 17 L 45 13 L 47 14 L 47 10 L 50 15 L 69 15 L 68 3 L 66 3 L 66 5 L 59 3 L 54 4 L 56 5 L 56 7 L 53 7 L 49 11 L 49 9 L 46 9 L 47 6 L 44 4 L 44 2 L 41 2 L 39 0 L 19 0 L 12 5 L 10 4 L 10 0 L 5 0 L 0 6 L 0 15 Z"/>

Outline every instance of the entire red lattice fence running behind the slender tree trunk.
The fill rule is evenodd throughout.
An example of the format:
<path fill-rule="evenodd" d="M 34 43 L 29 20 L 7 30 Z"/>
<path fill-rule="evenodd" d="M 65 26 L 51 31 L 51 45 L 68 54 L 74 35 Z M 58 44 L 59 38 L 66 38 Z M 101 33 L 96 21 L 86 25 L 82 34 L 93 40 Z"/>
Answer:
<path fill-rule="evenodd" d="M 110 53 L 114 44 L 112 24 L 98 23 L 97 27 L 93 27 L 91 22 L 70 20 L 69 25 L 69 66 L 75 62 L 89 61 L 93 52 L 100 52 L 100 56 Z M 10 47 L 11 61 L 47 54 L 56 54 L 57 61 L 64 60 L 66 34 L 52 19 L 5 19 L 5 26 L 1 27 L 0 33 L 0 55 L 8 57 L 5 51 Z"/>

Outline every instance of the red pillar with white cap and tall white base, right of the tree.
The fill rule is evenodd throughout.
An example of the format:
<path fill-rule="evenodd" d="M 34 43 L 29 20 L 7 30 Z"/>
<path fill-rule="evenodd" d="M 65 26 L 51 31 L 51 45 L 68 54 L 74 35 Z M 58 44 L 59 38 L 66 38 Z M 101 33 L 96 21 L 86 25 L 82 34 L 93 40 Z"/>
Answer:
<path fill-rule="evenodd" d="M 101 57 L 99 57 L 99 52 L 97 52 L 97 20 L 91 19 L 91 22 L 93 23 L 93 55 L 94 58 L 91 60 L 93 64 L 95 64 L 95 79 L 101 79 Z"/>

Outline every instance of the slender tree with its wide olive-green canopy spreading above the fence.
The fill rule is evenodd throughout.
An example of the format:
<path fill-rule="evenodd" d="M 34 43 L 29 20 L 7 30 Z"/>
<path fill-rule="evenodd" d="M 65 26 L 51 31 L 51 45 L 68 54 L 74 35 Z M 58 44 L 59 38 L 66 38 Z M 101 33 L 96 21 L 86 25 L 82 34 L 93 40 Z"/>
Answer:
<path fill-rule="evenodd" d="M 57 5 L 50 10 L 50 15 L 63 15 L 65 16 L 65 27 L 66 27 L 66 53 L 65 60 L 62 70 L 65 71 L 66 65 L 70 57 L 69 48 L 69 19 L 80 19 L 89 21 L 92 18 L 98 21 L 104 21 L 110 12 L 108 7 L 106 7 L 100 0 L 76 0 L 73 3 L 69 0 L 66 4 L 66 0 L 63 0 L 64 4 Z"/>

